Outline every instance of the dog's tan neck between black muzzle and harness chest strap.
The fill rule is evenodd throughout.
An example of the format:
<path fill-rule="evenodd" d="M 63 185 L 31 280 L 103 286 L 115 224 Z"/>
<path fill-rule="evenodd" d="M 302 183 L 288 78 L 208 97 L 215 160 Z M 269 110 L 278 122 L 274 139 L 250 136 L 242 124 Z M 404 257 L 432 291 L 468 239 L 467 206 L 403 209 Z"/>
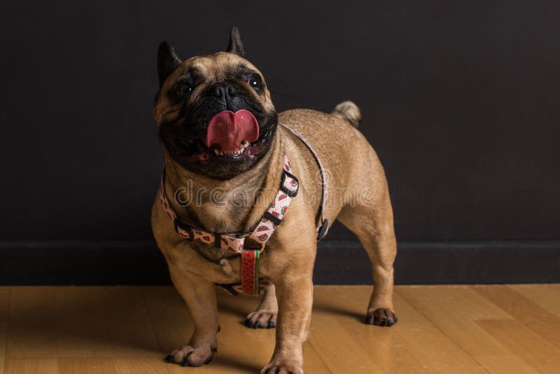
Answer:
<path fill-rule="evenodd" d="M 214 233 L 244 233 L 278 192 L 283 167 L 279 134 L 257 165 L 227 181 L 189 172 L 165 155 L 165 191 L 179 219 Z"/>

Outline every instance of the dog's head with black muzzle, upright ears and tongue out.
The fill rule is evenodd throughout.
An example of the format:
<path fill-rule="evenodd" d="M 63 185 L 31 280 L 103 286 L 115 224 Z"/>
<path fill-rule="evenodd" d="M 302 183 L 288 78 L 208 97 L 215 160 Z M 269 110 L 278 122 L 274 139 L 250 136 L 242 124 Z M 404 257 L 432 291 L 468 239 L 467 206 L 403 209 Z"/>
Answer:
<path fill-rule="evenodd" d="M 184 62 L 158 50 L 160 91 L 154 117 L 168 155 L 184 169 L 230 179 L 269 150 L 277 116 L 265 78 L 244 59 L 237 28 L 226 52 Z"/>

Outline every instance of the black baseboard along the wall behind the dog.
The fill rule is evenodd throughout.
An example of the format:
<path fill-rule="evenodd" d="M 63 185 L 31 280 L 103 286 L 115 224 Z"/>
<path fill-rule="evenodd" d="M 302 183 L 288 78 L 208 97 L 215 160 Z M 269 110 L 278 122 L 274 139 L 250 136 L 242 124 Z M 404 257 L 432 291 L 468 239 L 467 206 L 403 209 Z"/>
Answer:
<path fill-rule="evenodd" d="M 315 284 L 371 284 L 357 241 L 319 243 Z M 560 282 L 560 240 L 400 242 L 396 284 Z M 0 242 L 0 284 L 169 284 L 154 242 Z"/>

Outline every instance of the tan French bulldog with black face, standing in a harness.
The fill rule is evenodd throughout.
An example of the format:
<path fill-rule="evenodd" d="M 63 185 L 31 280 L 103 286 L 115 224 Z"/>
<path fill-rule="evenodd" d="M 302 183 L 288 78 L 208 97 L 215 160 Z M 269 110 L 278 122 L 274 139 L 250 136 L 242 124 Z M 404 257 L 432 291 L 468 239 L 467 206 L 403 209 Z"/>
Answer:
<path fill-rule="evenodd" d="M 276 328 L 260 373 L 303 373 L 316 243 L 335 219 L 371 259 L 365 323 L 395 324 L 393 211 L 381 162 L 356 128 L 358 106 L 276 113 L 235 27 L 227 50 L 213 55 L 183 61 L 162 43 L 158 76 L 153 115 L 165 167 L 151 223 L 195 326 L 166 361 L 202 366 L 214 357 L 220 284 L 262 294 L 246 317 L 253 328 Z"/>

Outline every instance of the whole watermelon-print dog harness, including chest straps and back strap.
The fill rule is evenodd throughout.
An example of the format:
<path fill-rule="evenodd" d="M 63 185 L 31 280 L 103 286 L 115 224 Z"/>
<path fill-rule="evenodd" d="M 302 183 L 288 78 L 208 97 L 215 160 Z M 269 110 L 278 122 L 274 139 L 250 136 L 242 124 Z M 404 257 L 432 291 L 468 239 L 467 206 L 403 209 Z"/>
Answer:
<path fill-rule="evenodd" d="M 282 125 L 282 124 L 280 124 Z M 317 165 L 321 171 L 321 179 L 323 180 L 322 193 L 321 193 L 321 221 L 317 228 L 317 240 L 321 240 L 328 230 L 328 220 L 325 219 L 325 205 L 326 205 L 326 178 L 325 169 L 319 160 L 314 149 L 302 135 L 291 129 L 286 125 L 282 125 L 287 130 L 292 132 L 309 148 L 311 154 L 314 156 Z M 241 255 L 241 284 L 219 284 L 230 293 L 237 295 L 239 292 L 247 295 L 258 296 L 260 291 L 269 285 L 266 279 L 258 278 L 258 264 L 262 251 L 265 250 L 266 242 L 272 237 L 276 228 L 282 223 L 286 211 L 292 202 L 292 199 L 299 191 L 300 183 L 297 177 L 292 174 L 290 161 L 288 155 L 284 155 L 282 177 L 280 182 L 279 191 L 276 193 L 274 200 L 269 205 L 268 209 L 256 224 L 255 228 L 249 233 L 210 233 L 209 231 L 195 228 L 187 223 L 181 222 L 174 212 L 172 205 L 169 203 L 167 194 L 165 193 L 165 168 L 162 172 L 162 179 L 160 184 L 160 191 L 158 193 L 162 207 L 173 221 L 174 230 L 179 237 L 184 240 L 193 241 L 197 240 L 204 244 L 213 245 L 216 248 L 225 249 Z M 246 242 L 249 238 L 256 245 L 251 245 Z"/>

